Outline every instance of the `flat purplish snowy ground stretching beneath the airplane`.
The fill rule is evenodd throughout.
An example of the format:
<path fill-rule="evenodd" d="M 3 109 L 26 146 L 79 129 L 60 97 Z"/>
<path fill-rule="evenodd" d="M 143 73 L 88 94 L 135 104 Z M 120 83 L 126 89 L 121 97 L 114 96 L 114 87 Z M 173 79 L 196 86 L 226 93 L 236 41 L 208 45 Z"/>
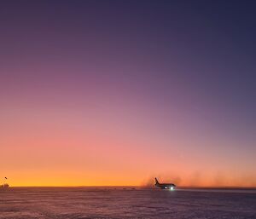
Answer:
<path fill-rule="evenodd" d="M 0 191 L 0 218 L 255 219 L 256 191 L 11 187 Z"/>

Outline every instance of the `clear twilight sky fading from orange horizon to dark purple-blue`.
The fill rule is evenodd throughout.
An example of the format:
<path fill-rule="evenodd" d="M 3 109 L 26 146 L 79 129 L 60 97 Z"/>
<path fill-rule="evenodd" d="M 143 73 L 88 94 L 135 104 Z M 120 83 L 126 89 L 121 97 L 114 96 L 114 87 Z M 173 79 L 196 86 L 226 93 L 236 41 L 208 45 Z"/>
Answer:
<path fill-rule="evenodd" d="M 255 7 L 1 1 L 0 177 L 256 187 Z"/>

